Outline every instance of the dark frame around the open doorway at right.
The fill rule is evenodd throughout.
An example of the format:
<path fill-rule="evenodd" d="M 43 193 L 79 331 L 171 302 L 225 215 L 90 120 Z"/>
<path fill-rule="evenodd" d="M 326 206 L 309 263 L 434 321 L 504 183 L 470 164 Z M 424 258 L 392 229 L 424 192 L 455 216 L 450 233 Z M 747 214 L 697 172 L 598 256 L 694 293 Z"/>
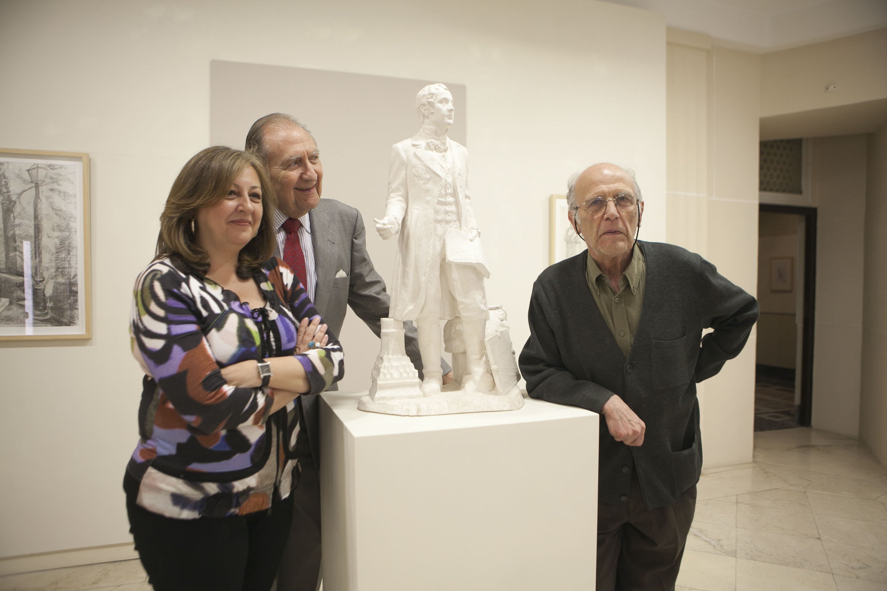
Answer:
<path fill-rule="evenodd" d="M 816 328 L 816 207 L 759 204 L 761 213 L 803 215 L 804 229 L 804 316 L 801 323 L 801 406 L 797 423 L 809 427 L 813 408 L 813 334 Z"/>

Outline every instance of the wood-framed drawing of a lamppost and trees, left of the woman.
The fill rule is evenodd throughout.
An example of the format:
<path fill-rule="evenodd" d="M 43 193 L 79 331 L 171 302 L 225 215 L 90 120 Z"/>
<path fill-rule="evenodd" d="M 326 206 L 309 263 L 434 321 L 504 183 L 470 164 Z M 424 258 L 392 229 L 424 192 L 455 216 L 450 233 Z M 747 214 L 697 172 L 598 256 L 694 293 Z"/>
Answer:
<path fill-rule="evenodd" d="M 90 338 L 90 157 L 0 148 L 0 340 Z"/>

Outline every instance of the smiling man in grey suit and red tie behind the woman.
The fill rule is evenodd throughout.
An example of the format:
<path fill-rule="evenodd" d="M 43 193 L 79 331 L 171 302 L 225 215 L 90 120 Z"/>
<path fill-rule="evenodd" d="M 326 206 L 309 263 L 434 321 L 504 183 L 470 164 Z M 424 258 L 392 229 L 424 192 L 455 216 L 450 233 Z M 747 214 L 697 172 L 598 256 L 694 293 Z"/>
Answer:
<path fill-rule="evenodd" d="M 323 165 L 314 138 L 291 115 L 271 113 L 255 121 L 247 150 L 263 157 L 278 195 L 275 213 L 278 258 L 304 284 L 328 331 L 338 336 L 348 306 L 376 336 L 389 315 L 385 282 L 366 252 L 364 220 L 354 207 L 321 199 Z M 405 323 L 406 354 L 422 371 L 416 329 Z M 343 344 L 348 350 L 348 344 Z M 441 362 L 444 383 L 452 380 Z M 369 377 L 367 377 L 369 378 Z M 280 564 L 279 591 L 314 591 L 320 572 L 318 400 L 300 396 L 301 431 L 296 443 L 302 473 L 294 492 L 293 527 Z"/>

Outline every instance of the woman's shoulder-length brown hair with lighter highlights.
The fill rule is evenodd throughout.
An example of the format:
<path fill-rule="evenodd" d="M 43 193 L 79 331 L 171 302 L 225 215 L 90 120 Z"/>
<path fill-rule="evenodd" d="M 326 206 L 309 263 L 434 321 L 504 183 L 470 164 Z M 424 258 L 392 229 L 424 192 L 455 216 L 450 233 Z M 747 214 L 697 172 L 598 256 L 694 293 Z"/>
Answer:
<path fill-rule="evenodd" d="M 192 222 L 198 210 L 224 199 L 234 178 L 246 167 L 255 168 L 262 185 L 262 222 L 255 237 L 240 249 L 237 275 L 246 279 L 271 258 L 276 245 L 273 219 L 277 198 L 268 169 L 252 152 L 216 145 L 197 152 L 172 183 L 161 214 L 155 261 L 169 257 L 177 267 L 190 268 L 200 275 L 207 273 L 209 257 L 197 244 Z"/>

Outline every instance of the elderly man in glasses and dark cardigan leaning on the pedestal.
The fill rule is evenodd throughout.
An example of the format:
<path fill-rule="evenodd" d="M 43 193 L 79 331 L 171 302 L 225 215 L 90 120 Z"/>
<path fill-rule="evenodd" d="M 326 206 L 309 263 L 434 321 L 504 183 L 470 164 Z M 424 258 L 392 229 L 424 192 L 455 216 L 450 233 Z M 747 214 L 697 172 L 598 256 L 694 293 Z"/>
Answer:
<path fill-rule="evenodd" d="M 597 591 L 673 589 L 703 463 L 696 383 L 742 351 L 757 301 L 698 254 L 635 239 L 630 172 L 594 165 L 568 189 L 588 250 L 533 285 L 521 371 L 531 397 L 606 420 Z"/>

